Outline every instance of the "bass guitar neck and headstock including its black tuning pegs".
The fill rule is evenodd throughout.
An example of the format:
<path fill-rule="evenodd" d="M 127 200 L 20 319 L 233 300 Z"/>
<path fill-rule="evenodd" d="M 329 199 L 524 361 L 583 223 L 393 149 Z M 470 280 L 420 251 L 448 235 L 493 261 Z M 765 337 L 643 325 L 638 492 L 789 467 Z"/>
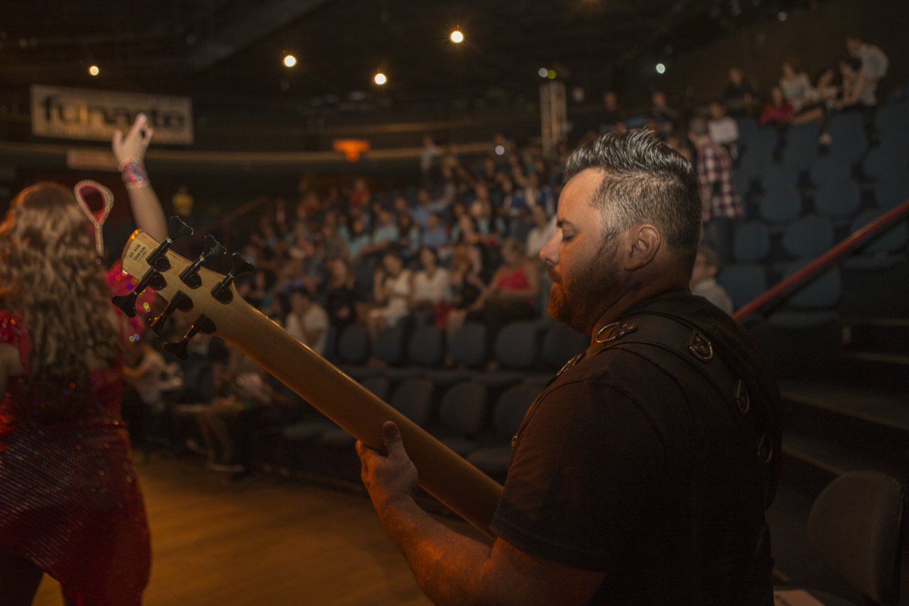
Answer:
<path fill-rule="evenodd" d="M 185 357 L 186 344 L 199 332 L 225 338 L 371 448 L 385 450 L 382 423 L 395 421 L 419 473 L 420 486 L 492 536 L 489 524 L 502 487 L 246 303 L 237 294 L 234 279 L 252 266 L 239 254 L 230 258 L 230 271 L 222 275 L 205 267 L 216 258 L 225 260 L 225 248 L 214 237 L 205 238 L 205 251 L 195 261 L 170 249 L 175 239 L 190 234 L 192 229 L 178 217 L 171 219 L 170 232 L 163 243 L 136 230 L 126 243 L 122 263 L 125 272 L 138 282 L 129 295 L 115 297 L 115 304 L 127 315 L 135 316 L 136 297 L 145 288 L 154 288 L 168 301 L 165 310 L 150 320 L 155 332 L 162 332 L 167 318 L 175 311 L 185 314 L 190 322 L 181 341 L 165 345 L 168 351 Z"/>

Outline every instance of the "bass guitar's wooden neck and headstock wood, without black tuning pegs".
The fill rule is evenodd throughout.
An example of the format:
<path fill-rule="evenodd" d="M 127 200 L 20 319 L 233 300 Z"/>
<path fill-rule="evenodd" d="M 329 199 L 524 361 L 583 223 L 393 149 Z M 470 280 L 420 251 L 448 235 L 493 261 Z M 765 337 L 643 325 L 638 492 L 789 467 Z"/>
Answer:
<path fill-rule="evenodd" d="M 153 237 L 136 230 L 123 252 L 125 271 L 142 278 L 150 268 L 148 258 L 157 247 L 159 243 Z M 233 285 L 229 286 L 229 302 L 215 299 L 212 290 L 224 276 L 199 268 L 201 286 L 189 288 L 180 274 L 191 265 L 190 261 L 170 250 L 165 255 L 170 268 L 160 272 L 166 285 L 157 288 L 157 293 L 168 301 L 174 300 L 178 291 L 190 298 L 192 307 L 183 312 L 190 322 L 195 324 L 204 314 L 214 323 L 215 335 L 233 343 L 275 379 L 371 448 L 385 449 L 382 423 L 395 421 L 419 473 L 420 486 L 492 536 L 489 524 L 502 494 L 497 482 L 250 306 Z"/>

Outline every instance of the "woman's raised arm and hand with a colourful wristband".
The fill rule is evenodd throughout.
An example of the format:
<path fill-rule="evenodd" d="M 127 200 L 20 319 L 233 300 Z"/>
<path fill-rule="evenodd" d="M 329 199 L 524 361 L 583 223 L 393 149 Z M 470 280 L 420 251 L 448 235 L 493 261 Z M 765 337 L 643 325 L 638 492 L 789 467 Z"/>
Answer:
<path fill-rule="evenodd" d="M 114 133 L 111 148 L 123 174 L 136 227 L 160 242 L 167 237 L 165 211 L 145 172 L 145 150 L 154 134 L 155 130 L 148 126 L 148 118 L 139 114 L 125 135 L 121 130 Z"/>

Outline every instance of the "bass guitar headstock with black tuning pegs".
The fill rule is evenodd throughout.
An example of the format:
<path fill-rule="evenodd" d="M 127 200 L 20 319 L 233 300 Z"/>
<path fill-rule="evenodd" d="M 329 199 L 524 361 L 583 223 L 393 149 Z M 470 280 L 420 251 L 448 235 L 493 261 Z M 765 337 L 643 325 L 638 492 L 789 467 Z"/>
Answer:
<path fill-rule="evenodd" d="M 124 271 L 138 280 L 135 289 L 113 298 L 114 304 L 127 316 L 135 316 L 135 300 L 145 288 L 154 288 L 168 301 L 167 307 L 150 326 L 158 336 L 164 334 L 165 323 L 175 311 L 182 312 L 190 322 L 184 337 L 176 343 L 167 343 L 165 349 L 177 357 L 186 358 L 186 345 L 197 333 L 217 333 L 229 338 L 229 329 L 237 312 L 248 313 L 249 305 L 234 287 L 234 279 L 253 269 L 239 254 L 230 258 L 230 271 L 220 274 L 208 268 L 218 261 L 224 265 L 225 247 L 215 237 L 205 237 L 205 250 L 190 261 L 170 249 L 176 239 L 192 235 L 193 230 L 179 217 L 171 217 L 167 239 L 158 242 L 154 237 L 136 229 L 126 242 L 122 264 Z M 226 329 L 226 330 L 225 330 Z M 225 334 L 226 333 L 226 334 Z"/>

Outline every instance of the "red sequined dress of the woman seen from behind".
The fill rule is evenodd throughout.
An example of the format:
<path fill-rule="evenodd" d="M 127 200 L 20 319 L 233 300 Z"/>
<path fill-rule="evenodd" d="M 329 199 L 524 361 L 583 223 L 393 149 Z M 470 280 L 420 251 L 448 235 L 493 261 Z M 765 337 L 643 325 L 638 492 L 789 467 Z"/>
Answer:
<path fill-rule="evenodd" d="M 151 547 L 120 419 L 122 364 L 47 398 L 25 381 L 32 343 L 17 312 L 0 309 L 0 342 L 19 349 L 26 373 L 0 401 L 0 549 L 34 561 L 77 604 L 141 603 Z"/>

